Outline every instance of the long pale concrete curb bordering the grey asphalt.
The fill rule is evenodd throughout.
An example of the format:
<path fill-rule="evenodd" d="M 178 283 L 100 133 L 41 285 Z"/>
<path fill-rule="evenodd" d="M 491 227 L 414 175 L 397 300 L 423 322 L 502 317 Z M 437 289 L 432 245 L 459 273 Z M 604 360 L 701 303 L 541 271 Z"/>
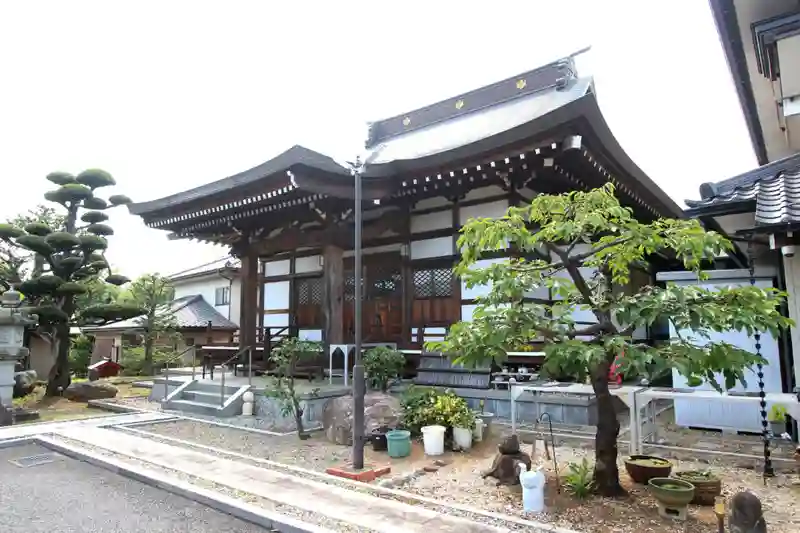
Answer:
<path fill-rule="evenodd" d="M 196 501 L 221 513 L 229 514 L 264 528 L 277 529 L 281 533 L 334 533 L 329 529 L 295 520 L 294 518 L 241 502 L 224 494 L 172 479 L 157 472 L 128 465 L 110 457 L 103 457 L 89 450 L 81 450 L 50 437 L 37 436 L 26 440 L 27 442 L 41 444 L 45 448 L 64 454 L 67 457 Z"/>

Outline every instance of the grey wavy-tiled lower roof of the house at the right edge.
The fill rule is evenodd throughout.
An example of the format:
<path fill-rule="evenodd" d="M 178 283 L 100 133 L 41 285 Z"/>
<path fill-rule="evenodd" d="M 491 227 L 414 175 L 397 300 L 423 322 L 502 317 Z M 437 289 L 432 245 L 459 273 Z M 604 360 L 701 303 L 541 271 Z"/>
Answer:
<path fill-rule="evenodd" d="M 754 204 L 760 226 L 800 222 L 800 154 L 717 183 L 700 186 L 702 200 L 686 200 L 689 212 Z"/>

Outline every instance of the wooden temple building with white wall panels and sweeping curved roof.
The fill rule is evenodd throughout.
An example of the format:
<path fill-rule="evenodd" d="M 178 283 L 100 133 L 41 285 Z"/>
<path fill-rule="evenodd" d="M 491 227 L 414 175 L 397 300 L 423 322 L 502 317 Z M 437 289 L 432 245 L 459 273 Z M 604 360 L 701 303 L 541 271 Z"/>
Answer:
<path fill-rule="evenodd" d="M 303 146 L 130 211 L 170 238 L 230 246 L 241 262 L 234 313 L 241 346 L 269 343 L 281 332 L 352 342 L 360 279 L 363 341 L 399 348 L 419 348 L 469 320 L 475 298 L 486 292 L 467 289 L 452 272 L 459 229 L 471 218 L 502 216 L 539 193 L 609 181 L 643 221 L 684 216 L 616 141 L 593 81 L 578 75 L 574 57 L 376 121 L 360 159 L 359 275 L 351 168 Z M 655 274 L 634 279 L 653 283 Z"/>

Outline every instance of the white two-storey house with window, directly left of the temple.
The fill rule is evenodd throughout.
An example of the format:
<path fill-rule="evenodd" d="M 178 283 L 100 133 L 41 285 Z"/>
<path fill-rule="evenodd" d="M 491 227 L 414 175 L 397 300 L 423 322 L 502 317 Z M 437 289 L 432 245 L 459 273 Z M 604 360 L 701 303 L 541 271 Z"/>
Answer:
<path fill-rule="evenodd" d="M 234 324 L 239 323 L 242 285 L 238 260 L 223 258 L 173 274 L 169 279 L 175 289 L 176 299 L 199 294 L 219 314 Z"/>

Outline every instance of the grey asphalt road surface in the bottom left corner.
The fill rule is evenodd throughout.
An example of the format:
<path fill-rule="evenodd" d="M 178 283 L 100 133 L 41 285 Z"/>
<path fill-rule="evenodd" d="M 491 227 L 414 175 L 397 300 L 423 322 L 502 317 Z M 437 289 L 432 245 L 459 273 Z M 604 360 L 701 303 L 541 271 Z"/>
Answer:
<path fill-rule="evenodd" d="M 21 468 L 9 461 L 50 450 L 0 449 L 2 533 L 264 533 L 267 530 L 102 468 L 57 456 Z"/>

